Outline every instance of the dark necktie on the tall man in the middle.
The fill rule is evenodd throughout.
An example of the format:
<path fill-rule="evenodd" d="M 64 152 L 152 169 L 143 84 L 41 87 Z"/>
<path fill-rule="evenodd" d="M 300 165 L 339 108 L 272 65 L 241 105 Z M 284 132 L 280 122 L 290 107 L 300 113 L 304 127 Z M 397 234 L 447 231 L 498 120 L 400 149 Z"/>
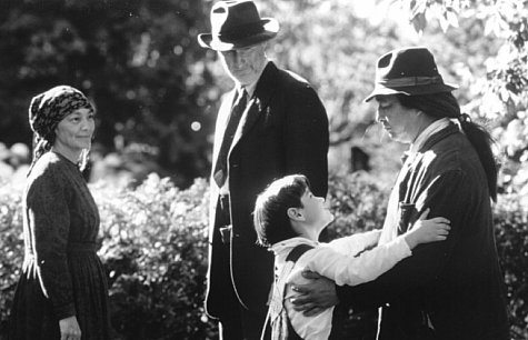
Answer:
<path fill-rule="evenodd" d="M 220 151 L 218 152 L 217 164 L 215 167 L 213 178 L 218 187 L 222 187 L 228 177 L 228 153 L 231 148 L 235 133 L 237 132 L 240 118 L 242 117 L 246 106 L 248 103 L 248 92 L 241 90 L 237 100 L 235 101 L 231 108 L 231 114 L 229 116 L 229 122 L 223 132 L 222 144 L 220 146 Z"/>

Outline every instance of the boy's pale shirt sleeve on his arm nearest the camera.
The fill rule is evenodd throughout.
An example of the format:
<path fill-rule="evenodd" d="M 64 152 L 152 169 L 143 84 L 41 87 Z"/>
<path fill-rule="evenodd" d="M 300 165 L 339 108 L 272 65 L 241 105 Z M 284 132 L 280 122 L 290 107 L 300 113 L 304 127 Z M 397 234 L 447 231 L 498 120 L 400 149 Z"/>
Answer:
<path fill-rule="evenodd" d="M 305 261 L 309 270 L 336 281 L 336 284 L 356 286 L 375 280 L 409 256 L 409 246 L 404 237 L 398 237 L 358 257 L 339 253 L 330 247 L 319 247 Z"/>

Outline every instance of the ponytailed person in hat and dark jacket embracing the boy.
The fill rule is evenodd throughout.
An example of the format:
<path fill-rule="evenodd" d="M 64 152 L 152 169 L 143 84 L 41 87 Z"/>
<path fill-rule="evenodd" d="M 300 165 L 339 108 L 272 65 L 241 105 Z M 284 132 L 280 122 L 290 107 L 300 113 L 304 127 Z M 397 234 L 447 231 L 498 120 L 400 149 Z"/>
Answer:
<path fill-rule="evenodd" d="M 445 241 L 417 247 L 372 282 L 336 289 L 319 279 L 296 287 L 306 293 L 296 301 L 300 310 L 312 313 L 337 301 L 355 311 L 380 307 L 380 340 L 509 339 L 490 207 L 497 166 L 489 133 L 460 112 L 455 89 L 427 48 L 397 49 L 378 59 L 366 101 L 378 102 L 377 120 L 393 140 L 410 144 L 379 244 L 406 232 L 427 208 L 428 218 L 449 219 L 451 230 Z"/>

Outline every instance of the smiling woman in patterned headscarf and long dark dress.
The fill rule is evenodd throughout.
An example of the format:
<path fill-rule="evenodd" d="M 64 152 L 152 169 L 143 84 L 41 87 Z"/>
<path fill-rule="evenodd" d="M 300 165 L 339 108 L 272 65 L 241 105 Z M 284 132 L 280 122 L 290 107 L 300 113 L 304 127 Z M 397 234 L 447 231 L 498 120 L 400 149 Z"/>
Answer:
<path fill-rule="evenodd" d="M 81 171 L 94 108 L 54 87 L 31 100 L 33 161 L 23 196 L 24 261 L 11 339 L 109 339 L 108 288 L 97 250 L 99 212 Z"/>

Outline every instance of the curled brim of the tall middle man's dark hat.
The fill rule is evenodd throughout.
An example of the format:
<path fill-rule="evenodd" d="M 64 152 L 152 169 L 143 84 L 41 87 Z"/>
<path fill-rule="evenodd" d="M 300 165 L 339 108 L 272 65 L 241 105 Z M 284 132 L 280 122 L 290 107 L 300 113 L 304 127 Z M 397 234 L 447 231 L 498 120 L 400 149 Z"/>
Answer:
<path fill-rule="evenodd" d="M 238 40 L 222 40 L 221 37 L 211 33 L 198 34 L 198 43 L 215 51 L 230 51 L 243 49 L 253 44 L 273 39 L 279 32 L 279 22 L 273 18 L 261 19 L 263 31 Z"/>

